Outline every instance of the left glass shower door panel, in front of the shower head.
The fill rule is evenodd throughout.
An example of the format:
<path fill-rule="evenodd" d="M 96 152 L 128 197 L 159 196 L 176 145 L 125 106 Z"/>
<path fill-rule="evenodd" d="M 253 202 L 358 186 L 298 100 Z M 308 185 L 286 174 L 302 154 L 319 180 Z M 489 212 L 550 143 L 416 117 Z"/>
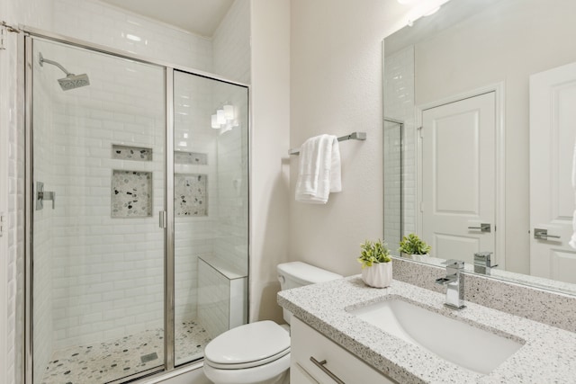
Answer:
<path fill-rule="evenodd" d="M 165 69 L 44 40 L 31 67 L 34 382 L 157 371 Z"/>

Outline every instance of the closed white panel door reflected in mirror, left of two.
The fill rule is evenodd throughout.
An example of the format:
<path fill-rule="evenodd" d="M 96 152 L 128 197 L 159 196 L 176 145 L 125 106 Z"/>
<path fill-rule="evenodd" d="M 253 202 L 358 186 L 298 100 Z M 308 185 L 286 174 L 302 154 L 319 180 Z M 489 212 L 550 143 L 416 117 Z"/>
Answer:
<path fill-rule="evenodd" d="M 422 112 L 422 237 L 435 257 L 495 251 L 495 131 L 494 92 Z"/>

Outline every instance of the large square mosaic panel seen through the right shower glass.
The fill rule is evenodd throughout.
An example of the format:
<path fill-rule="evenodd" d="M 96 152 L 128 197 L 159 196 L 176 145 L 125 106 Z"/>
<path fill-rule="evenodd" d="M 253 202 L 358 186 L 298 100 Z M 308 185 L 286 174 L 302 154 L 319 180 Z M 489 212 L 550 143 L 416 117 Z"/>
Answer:
<path fill-rule="evenodd" d="M 208 216 L 208 175 L 174 175 L 176 216 Z"/>

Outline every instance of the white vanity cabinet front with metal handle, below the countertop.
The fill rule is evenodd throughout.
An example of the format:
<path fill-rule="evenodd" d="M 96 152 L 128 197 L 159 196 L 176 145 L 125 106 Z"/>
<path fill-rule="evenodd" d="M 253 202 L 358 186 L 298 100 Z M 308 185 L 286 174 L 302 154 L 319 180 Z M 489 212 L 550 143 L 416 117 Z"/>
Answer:
<path fill-rule="evenodd" d="M 395 383 L 296 317 L 292 317 L 291 322 L 290 382 Z"/>

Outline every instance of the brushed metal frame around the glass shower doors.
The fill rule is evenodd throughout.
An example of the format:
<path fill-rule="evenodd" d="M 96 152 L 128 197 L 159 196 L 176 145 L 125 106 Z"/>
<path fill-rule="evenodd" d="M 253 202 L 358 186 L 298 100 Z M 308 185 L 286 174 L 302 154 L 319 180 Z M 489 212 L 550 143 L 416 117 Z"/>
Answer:
<path fill-rule="evenodd" d="M 252 142 L 252 114 L 251 114 L 251 88 L 250 85 L 229 80 L 225 77 L 200 71 L 191 67 L 184 67 L 154 58 L 143 58 L 120 49 L 112 49 L 103 45 L 94 44 L 85 40 L 70 38 L 49 31 L 41 31 L 29 26 L 20 26 L 23 31 L 19 39 L 19 51 L 23 52 L 23 127 L 24 127 L 24 332 L 23 332 L 23 378 L 25 384 L 33 383 L 33 43 L 34 40 L 44 40 L 65 44 L 70 47 L 87 49 L 93 52 L 108 55 L 114 58 L 124 58 L 142 64 L 164 68 L 165 73 L 165 210 L 166 220 L 160 224 L 164 227 L 164 364 L 162 368 L 152 368 L 130 375 L 131 380 L 150 376 L 161 376 L 175 371 L 175 215 L 174 215 L 174 72 L 180 71 L 188 75 L 202 76 L 211 80 L 220 81 L 229 85 L 238 85 L 247 90 L 247 310 L 249 313 L 250 296 L 250 255 L 252 255 L 252 242 L 250 241 L 251 215 L 250 215 L 250 147 Z M 192 362 L 185 362 L 178 366 L 186 371 L 201 368 L 203 358 Z M 126 378 L 112 381 L 121 383 Z"/>

